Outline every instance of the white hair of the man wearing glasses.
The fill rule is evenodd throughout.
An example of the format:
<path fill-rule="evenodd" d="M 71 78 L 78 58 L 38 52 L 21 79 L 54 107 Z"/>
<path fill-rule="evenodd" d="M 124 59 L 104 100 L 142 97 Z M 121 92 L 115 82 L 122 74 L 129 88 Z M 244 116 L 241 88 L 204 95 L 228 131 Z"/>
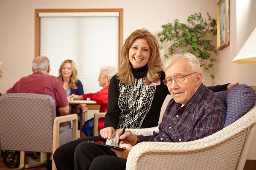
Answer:
<path fill-rule="evenodd" d="M 200 66 L 200 62 L 198 61 L 198 59 L 190 53 L 184 53 L 184 54 L 176 54 L 172 57 L 170 57 L 169 59 L 166 60 L 163 71 L 166 71 L 167 68 L 169 68 L 169 66 L 177 61 L 178 59 L 188 59 L 189 64 L 191 65 L 192 71 L 195 73 L 201 73 L 201 66 Z"/>

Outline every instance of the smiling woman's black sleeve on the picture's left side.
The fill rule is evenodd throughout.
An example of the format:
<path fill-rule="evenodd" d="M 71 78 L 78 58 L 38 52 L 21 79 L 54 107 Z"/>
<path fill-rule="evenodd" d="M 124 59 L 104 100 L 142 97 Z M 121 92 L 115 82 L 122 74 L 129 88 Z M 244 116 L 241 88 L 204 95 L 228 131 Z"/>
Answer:
<path fill-rule="evenodd" d="M 105 116 L 104 127 L 117 128 L 121 110 L 118 106 L 119 80 L 116 75 L 111 78 L 108 88 L 108 111 Z"/>

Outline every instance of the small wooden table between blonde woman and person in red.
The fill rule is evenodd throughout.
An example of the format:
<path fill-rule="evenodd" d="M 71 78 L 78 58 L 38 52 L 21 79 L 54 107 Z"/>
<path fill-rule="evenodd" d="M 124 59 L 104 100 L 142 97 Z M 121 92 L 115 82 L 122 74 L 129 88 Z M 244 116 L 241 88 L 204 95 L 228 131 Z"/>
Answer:
<path fill-rule="evenodd" d="M 76 105 L 76 104 L 86 104 L 85 108 L 79 109 L 79 115 L 80 115 L 80 138 L 84 138 L 85 135 L 81 131 L 84 122 L 87 121 L 87 111 L 88 110 L 99 110 L 100 105 L 98 105 L 95 101 L 93 100 L 68 100 L 70 105 Z"/>

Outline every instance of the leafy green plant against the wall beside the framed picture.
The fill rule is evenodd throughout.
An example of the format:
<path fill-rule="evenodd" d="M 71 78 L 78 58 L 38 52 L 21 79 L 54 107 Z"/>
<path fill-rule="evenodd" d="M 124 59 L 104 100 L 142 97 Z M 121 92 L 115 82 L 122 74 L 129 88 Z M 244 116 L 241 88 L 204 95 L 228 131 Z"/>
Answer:
<path fill-rule="evenodd" d="M 198 57 L 201 67 L 209 71 L 217 54 L 215 45 L 212 45 L 212 36 L 217 34 L 216 20 L 207 12 L 208 20 L 204 20 L 201 13 L 195 13 L 188 17 L 187 24 L 180 23 L 175 19 L 174 23 L 162 25 L 163 31 L 158 33 L 160 42 L 171 42 L 169 53 L 164 56 L 168 58 L 172 54 L 189 52 Z M 212 35 L 212 36 L 211 36 Z M 163 46 L 160 45 L 160 49 Z M 214 75 L 211 74 L 214 78 Z"/>

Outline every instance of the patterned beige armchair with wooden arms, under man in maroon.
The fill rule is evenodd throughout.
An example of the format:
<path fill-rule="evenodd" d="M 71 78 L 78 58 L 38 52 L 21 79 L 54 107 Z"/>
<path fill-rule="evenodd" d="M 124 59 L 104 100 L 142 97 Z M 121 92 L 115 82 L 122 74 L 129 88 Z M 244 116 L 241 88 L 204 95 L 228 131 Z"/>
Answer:
<path fill-rule="evenodd" d="M 77 139 L 77 115 L 56 117 L 55 102 L 49 95 L 3 94 L 0 117 L 1 149 L 21 151 L 19 169 L 25 168 L 24 151 L 54 153 L 62 144 Z M 61 122 L 70 120 L 72 129 L 60 131 Z"/>

